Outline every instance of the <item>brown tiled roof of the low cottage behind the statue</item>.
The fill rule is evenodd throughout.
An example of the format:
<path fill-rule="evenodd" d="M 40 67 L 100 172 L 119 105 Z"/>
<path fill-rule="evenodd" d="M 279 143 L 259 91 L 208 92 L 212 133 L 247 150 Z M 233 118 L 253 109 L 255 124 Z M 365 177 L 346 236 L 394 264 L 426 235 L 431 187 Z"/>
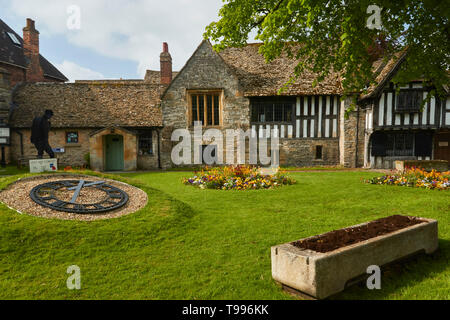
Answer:
<path fill-rule="evenodd" d="M 10 125 L 30 128 L 51 109 L 54 128 L 160 127 L 163 88 L 142 80 L 24 84 L 14 93 Z"/>

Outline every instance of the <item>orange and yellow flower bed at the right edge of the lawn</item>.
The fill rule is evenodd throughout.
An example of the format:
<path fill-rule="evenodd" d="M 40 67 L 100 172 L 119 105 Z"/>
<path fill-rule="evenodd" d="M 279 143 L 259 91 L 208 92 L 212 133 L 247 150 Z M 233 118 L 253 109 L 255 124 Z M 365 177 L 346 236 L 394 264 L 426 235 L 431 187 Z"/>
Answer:
<path fill-rule="evenodd" d="M 450 171 L 427 172 L 420 168 L 409 168 L 401 172 L 375 177 L 366 181 L 371 184 L 388 184 L 405 187 L 448 190 L 450 189 Z"/>

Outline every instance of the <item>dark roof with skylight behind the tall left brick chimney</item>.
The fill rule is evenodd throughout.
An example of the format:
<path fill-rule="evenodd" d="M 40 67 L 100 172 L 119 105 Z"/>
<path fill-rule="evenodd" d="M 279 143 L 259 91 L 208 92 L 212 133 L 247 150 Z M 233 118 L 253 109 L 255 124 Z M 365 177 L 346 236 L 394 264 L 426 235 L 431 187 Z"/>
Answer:
<path fill-rule="evenodd" d="M 14 34 L 20 42 L 20 46 L 15 45 L 8 35 L 8 32 Z M 52 65 L 42 55 L 39 55 L 41 68 L 46 77 L 51 77 L 61 81 L 68 81 L 68 79 Z M 14 32 L 2 19 L 0 19 L 0 62 L 12 64 L 20 68 L 26 69 L 28 61 L 23 53 L 23 39 Z"/>

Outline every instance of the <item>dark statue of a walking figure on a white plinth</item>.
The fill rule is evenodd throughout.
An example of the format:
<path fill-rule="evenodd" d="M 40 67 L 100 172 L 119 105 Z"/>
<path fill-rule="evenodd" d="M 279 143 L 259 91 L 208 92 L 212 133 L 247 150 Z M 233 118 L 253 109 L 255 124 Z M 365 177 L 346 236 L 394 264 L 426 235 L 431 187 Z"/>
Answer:
<path fill-rule="evenodd" d="M 43 116 L 33 119 L 33 124 L 31 126 L 31 143 L 36 147 L 39 159 L 42 159 L 44 151 L 48 153 L 50 158 L 55 157 L 52 147 L 48 144 L 48 133 L 50 132 L 50 119 L 52 116 L 52 110 L 45 110 Z"/>

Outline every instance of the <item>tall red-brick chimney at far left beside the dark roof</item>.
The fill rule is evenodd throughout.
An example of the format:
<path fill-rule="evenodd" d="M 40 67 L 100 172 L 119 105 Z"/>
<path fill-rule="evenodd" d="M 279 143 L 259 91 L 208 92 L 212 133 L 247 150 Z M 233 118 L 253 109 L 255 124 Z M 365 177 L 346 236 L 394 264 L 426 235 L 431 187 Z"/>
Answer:
<path fill-rule="evenodd" d="M 23 53 L 28 59 L 27 82 L 44 80 L 44 71 L 39 59 L 39 31 L 34 26 L 34 21 L 27 19 L 27 26 L 23 28 Z"/>

